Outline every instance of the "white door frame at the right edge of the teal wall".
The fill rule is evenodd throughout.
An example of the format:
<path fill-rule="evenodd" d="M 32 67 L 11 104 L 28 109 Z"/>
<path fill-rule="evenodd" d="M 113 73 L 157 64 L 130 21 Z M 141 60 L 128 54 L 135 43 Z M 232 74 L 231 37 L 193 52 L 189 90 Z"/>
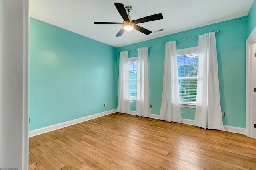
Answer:
<path fill-rule="evenodd" d="M 254 44 L 256 43 L 256 27 L 246 40 L 246 136 L 254 136 Z"/>

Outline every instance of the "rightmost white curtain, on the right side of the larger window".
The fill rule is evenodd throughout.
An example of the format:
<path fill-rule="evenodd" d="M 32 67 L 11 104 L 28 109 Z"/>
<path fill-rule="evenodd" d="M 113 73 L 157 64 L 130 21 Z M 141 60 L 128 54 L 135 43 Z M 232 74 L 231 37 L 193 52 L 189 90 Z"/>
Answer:
<path fill-rule="evenodd" d="M 223 129 L 215 33 L 199 35 L 198 80 L 194 124 Z"/>

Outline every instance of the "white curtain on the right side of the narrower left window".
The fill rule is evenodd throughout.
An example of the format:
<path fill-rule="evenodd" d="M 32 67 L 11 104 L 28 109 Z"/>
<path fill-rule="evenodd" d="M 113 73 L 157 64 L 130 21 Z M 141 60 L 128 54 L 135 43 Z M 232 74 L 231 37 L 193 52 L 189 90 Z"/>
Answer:
<path fill-rule="evenodd" d="M 149 99 L 148 47 L 138 49 L 136 115 L 151 117 Z"/>

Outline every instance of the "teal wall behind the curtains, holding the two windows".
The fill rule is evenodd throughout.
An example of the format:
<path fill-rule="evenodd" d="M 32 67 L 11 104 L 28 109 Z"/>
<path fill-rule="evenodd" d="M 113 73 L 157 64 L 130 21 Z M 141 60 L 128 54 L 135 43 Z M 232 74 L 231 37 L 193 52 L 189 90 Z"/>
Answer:
<path fill-rule="evenodd" d="M 164 73 L 163 42 L 194 37 L 200 34 L 220 30 L 216 34 L 218 72 L 220 84 L 220 100 L 224 125 L 245 127 L 245 56 L 247 37 L 247 17 L 224 21 L 180 33 L 134 43 L 119 47 L 117 51 L 128 51 L 139 47 L 149 48 L 149 79 L 151 113 L 159 114 L 162 100 L 162 86 Z M 198 46 L 198 38 L 177 42 L 177 49 Z M 118 58 L 117 53 L 117 58 Z M 129 53 L 129 57 L 137 56 L 136 51 Z M 131 102 L 131 110 L 136 110 L 136 104 Z M 182 108 L 184 119 L 194 119 L 195 109 Z"/>

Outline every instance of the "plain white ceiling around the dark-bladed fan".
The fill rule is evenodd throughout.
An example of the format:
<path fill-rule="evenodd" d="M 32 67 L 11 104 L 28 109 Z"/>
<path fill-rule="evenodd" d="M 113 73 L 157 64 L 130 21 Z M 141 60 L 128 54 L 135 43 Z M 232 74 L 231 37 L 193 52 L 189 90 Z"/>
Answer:
<path fill-rule="evenodd" d="M 30 0 L 30 17 L 120 47 L 180 31 L 248 15 L 254 0 Z M 164 19 L 139 23 L 152 32 L 125 31 L 122 25 L 93 22 L 122 22 L 114 2 L 132 6 L 132 20 L 162 13 Z"/>

